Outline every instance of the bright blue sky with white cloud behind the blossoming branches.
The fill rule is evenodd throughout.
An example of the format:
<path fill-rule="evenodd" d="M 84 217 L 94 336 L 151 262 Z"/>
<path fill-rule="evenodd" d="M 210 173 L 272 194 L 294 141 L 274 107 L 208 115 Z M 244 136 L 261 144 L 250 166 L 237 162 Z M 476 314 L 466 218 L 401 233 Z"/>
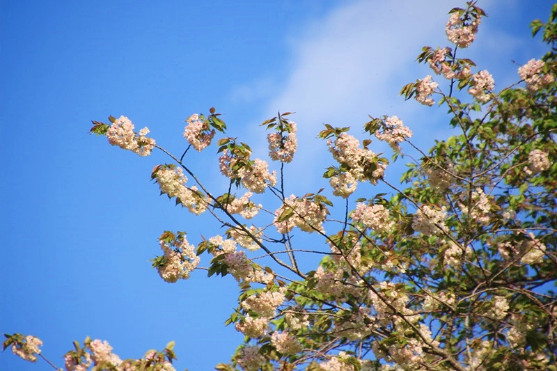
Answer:
<path fill-rule="evenodd" d="M 423 148 L 448 134 L 444 109 L 404 102 L 398 92 L 430 74 L 414 59 L 423 45 L 448 45 L 448 10 L 463 4 L 0 1 L 1 332 L 38 336 L 59 367 L 72 340 L 86 336 L 108 340 L 121 358 L 175 340 L 177 370 L 228 361 L 242 340 L 223 326 L 237 299 L 233 278 L 196 271 L 171 285 L 148 262 L 163 230 L 187 230 L 195 244 L 201 232 L 223 231 L 159 196 L 150 171 L 167 161 L 161 153 L 141 158 L 113 148 L 88 134 L 90 120 L 128 116 L 178 154 L 185 118 L 215 106 L 230 135 L 265 158 L 258 124 L 296 111 L 300 151 L 287 189 L 316 191 L 331 164 L 315 139 L 323 123 L 361 135 L 368 114 L 397 115 Z M 489 17 L 461 55 L 492 72 L 499 89 L 517 80 L 516 63 L 542 56 L 528 24 L 546 21 L 552 1 L 478 5 Z M 223 189 L 217 171 L 207 170 L 216 169 L 215 156 L 188 161 Z M 387 176 L 399 178 L 389 169 Z M 368 196 L 377 191 L 368 188 Z M 49 368 L 4 352 L 0 369 Z"/>

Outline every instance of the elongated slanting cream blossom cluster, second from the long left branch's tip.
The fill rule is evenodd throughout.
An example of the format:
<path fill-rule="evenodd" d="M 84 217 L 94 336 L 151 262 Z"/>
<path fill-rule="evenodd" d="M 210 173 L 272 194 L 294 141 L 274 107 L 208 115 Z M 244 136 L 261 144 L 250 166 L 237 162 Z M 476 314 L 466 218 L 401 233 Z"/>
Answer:
<path fill-rule="evenodd" d="M 170 166 L 159 166 L 155 172 L 155 177 L 161 192 L 168 197 L 178 198 L 180 204 L 187 209 L 199 215 L 207 210 L 207 198 L 198 194 L 196 186 L 186 187 L 187 177 L 184 175 L 182 168 Z"/>

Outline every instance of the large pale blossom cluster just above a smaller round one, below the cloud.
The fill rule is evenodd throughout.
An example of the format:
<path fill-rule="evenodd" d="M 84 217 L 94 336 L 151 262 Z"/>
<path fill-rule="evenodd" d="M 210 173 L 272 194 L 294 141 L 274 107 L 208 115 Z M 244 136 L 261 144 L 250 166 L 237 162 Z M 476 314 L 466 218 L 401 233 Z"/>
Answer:
<path fill-rule="evenodd" d="M 339 164 L 347 166 L 348 171 L 358 181 L 369 180 L 371 184 L 377 184 L 377 180 L 383 177 L 386 165 L 377 163 L 377 168 L 369 173 L 368 168 L 377 155 L 372 150 L 360 148 L 360 141 L 354 136 L 342 133 L 333 142 L 327 141 L 329 151 Z M 347 179 L 348 180 L 348 179 Z M 355 186 L 352 186 L 355 189 Z"/>

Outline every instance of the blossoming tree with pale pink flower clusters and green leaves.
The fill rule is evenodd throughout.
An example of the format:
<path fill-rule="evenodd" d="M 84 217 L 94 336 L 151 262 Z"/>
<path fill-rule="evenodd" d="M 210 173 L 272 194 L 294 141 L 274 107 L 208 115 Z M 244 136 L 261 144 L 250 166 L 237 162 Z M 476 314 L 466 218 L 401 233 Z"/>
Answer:
<path fill-rule="evenodd" d="M 325 125 L 319 137 L 335 163 L 324 173 L 332 196 L 289 195 L 283 167 L 295 157 L 297 125 L 288 112 L 262 123 L 278 174 L 226 136 L 215 109 L 187 119 L 189 145 L 180 157 L 125 116 L 93 121 L 91 132 L 111 145 L 140 156 L 166 153 L 171 163 L 152 171 L 160 191 L 226 228 L 196 245 L 185 232 L 164 231 L 162 255 L 152 260 L 168 283 L 188 278 L 204 258 L 209 276 L 237 281 L 238 306 L 227 323 L 244 343 L 217 370 L 557 370 L 557 5 L 549 22 L 532 23 L 549 52 L 499 91 L 487 70 L 460 57 L 484 16 L 472 1 L 450 10 L 450 46 L 424 47 L 418 56 L 433 76 L 401 92 L 427 106 L 437 100 L 458 134 L 423 151 L 396 116 L 363 125 L 390 145 L 391 161 L 413 159 L 402 175 L 407 188 L 386 179 L 390 161 L 368 148 L 370 139 Z M 197 155 L 191 148 L 210 147 L 228 184 L 224 194 L 207 189 L 188 165 Z M 380 182 L 392 189 L 390 199 L 374 193 Z M 369 196 L 352 200 L 356 187 L 368 187 Z M 254 194 L 268 194 L 268 205 Z M 329 250 L 298 246 L 293 230 Z M 315 257 L 315 269 L 299 268 Z M 28 361 L 42 356 L 38 338 L 6 338 L 4 349 Z M 107 342 L 87 338 L 74 342 L 65 369 L 173 370 L 172 349 L 171 342 L 122 361 Z"/>

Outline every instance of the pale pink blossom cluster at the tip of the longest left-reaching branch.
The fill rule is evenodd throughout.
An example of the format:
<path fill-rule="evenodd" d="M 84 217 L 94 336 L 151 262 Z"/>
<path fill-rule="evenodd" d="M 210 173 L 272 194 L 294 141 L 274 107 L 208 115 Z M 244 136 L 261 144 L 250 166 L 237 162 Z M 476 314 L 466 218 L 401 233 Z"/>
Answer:
<path fill-rule="evenodd" d="M 111 145 L 118 145 L 118 147 L 135 152 L 140 156 L 148 156 L 155 148 L 155 139 L 147 138 L 148 133 L 147 127 L 139 130 L 139 134 L 134 132 L 132 121 L 125 116 L 120 116 L 107 130 L 107 138 Z"/>

